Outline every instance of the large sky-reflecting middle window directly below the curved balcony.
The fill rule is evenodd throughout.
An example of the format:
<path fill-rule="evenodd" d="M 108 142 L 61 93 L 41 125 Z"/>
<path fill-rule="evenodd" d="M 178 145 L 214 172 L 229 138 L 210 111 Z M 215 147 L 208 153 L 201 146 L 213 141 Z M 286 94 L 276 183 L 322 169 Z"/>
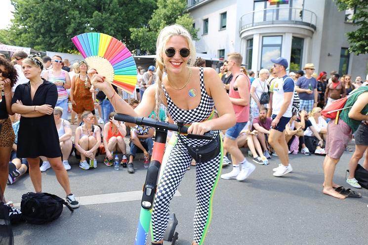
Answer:
<path fill-rule="evenodd" d="M 261 68 L 271 69 L 271 59 L 281 56 L 282 36 L 270 36 L 262 38 Z"/>

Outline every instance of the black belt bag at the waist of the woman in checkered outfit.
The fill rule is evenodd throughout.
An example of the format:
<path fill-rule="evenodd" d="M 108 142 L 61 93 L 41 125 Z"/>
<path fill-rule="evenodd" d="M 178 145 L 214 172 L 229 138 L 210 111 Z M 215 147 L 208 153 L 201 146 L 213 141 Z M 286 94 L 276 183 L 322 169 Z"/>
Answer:
<path fill-rule="evenodd" d="M 178 135 L 178 138 L 183 145 L 187 148 L 191 157 L 196 161 L 196 163 L 208 162 L 221 152 L 221 138 L 220 134 L 216 138 L 212 139 L 208 144 L 198 147 L 188 146 L 184 140 Z"/>

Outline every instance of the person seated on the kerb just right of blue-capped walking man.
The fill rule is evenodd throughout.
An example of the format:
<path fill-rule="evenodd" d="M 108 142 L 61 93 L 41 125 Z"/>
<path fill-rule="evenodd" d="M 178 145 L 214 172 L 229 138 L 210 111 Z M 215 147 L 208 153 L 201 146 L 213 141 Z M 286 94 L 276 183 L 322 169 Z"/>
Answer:
<path fill-rule="evenodd" d="M 296 122 L 297 112 L 293 111 L 290 121 L 285 127 L 285 139 L 290 153 L 298 154 L 299 151 L 299 137 L 304 135 L 300 123 Z"/>

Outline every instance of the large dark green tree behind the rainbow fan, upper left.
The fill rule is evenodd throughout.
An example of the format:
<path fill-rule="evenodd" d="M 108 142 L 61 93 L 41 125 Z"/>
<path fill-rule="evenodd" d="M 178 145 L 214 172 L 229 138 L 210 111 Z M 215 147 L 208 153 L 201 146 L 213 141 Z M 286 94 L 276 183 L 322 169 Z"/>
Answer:
<path fill-rule="evenodd" d="M 9 29 L 17 45 L 37 50 L 76 50 L 71 38 L 85 32 L 111 35 L 130 49 L 131 27 L 147 23 L 155 0 L 12 0 L 14 19 Z M 142 7 L 144 6 L 144 7 Z"/>

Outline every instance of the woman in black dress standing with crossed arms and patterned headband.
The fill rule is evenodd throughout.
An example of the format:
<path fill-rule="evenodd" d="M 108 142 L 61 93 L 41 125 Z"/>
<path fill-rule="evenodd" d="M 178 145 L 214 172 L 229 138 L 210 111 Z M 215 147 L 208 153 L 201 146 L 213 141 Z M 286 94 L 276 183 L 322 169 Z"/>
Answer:
<path fill-rule="evenodd" d="M 70 190 L 69 177 L 61 162 L 59 137 L 53 117 L 57 101 L 56 85 L 41 78 L 42 60 L 36 55 L 23 60 L 22 70 L 30 82 L 19 84 L 14 92 L 11 109 L 21 114 L 17 157 L 27 158 L 29 173 L 36 192 L 42 191 L 40 158 L 48 159 L 56 178 L 73 208 L 79 203 Z"/>

